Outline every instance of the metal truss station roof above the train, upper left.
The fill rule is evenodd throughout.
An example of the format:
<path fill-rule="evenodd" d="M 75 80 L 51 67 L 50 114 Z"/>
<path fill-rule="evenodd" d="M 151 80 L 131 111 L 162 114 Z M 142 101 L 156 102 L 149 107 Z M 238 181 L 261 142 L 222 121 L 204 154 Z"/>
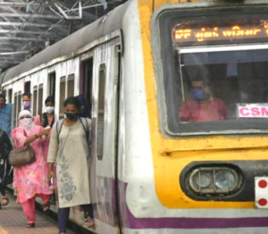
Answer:
<path fill-rule="evenodd" d="M 0 0 L 0 72 L 96 21 L 126 0 Z"/>

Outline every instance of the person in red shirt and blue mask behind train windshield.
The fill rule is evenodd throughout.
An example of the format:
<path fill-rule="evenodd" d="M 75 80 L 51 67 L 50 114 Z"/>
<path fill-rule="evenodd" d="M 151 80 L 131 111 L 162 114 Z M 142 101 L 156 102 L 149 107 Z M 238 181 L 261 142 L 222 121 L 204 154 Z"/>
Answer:
<path fill-rule="evenodd" d="M 228 112 L 222 99 L 214 98 L 205 79 L 191 81 L 191 96 L 180 106 L 180 122 L 225 121 Z"/>

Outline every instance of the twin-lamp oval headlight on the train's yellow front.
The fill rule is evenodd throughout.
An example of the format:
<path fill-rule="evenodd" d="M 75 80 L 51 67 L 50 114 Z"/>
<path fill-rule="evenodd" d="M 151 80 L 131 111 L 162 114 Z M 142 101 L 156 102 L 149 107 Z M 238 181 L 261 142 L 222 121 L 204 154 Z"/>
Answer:
<path fill-rule="evenodd" d="M 226 167 L 198 168 L 188 177 L 191 190 L 203 195 L 229 194 L 236 191 L 240 184 L 238 172 Z"/>

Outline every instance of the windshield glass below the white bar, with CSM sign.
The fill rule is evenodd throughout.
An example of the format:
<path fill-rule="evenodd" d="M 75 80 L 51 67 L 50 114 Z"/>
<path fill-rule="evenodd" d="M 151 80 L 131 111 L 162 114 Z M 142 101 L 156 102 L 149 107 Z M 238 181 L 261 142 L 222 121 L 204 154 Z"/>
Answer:
<path fill-rule="evenodd" d="M 264 51 L 180 54 L 180 123 L 267 120 Z"/>

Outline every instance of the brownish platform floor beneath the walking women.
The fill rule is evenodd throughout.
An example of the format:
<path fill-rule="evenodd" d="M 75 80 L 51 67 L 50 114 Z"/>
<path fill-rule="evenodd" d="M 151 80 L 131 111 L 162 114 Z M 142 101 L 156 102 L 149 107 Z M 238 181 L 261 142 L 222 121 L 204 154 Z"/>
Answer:
<path fill-rule="evenodd" d="M 36 228 L 27 229 L 26 217 L 14 196 L 8 194 L 10 203 L 0 210 L 0 234 L 57 234 L 57 223 L 46 214 L 36 211 Z M 68 230 L 68 234 L 75 234 Z"/>

